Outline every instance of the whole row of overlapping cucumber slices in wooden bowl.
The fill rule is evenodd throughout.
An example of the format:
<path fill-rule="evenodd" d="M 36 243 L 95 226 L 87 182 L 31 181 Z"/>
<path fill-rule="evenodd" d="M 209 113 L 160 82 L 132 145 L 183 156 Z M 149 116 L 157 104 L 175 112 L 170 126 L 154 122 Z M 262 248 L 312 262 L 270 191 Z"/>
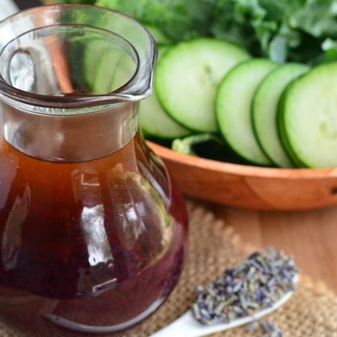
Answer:
<path fill-rule="evenodd" d="M 337 63 L 281 65 L 224 40 L 174 45 L 150 31 L 159 63 L 154 93 L 141 103 L 147 138 L 191 154 L 193 141 L 214 139 L 252 165 L 337 166 Z"/>

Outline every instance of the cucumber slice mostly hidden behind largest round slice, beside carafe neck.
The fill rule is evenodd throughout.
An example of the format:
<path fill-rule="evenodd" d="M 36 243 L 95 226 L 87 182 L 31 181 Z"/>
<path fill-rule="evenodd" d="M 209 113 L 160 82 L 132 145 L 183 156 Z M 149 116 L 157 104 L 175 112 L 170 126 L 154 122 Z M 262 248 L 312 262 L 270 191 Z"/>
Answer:
<path fill-rule="evenodd" d="M 169 47 L 158 48 L 158 60 L 168 49 Z M 146 137 L 175 139 L 186 137 L 192 133 L 166 114 L 159 104 L 155 92 L 140 104 L 140 124 Z"/>

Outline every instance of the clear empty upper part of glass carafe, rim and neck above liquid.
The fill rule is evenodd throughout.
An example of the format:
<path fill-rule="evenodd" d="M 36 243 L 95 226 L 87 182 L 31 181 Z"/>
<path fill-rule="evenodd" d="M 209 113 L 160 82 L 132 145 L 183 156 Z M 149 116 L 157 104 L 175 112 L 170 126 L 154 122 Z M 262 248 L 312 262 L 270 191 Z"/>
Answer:
<path fill-rule="evenodd" d="M 3 134 L 17 150 L 79 162 L 135 136 L 157 48 L 132 18 L 94 6 L 37 7 L 0 23 L 0 50 Z"/>

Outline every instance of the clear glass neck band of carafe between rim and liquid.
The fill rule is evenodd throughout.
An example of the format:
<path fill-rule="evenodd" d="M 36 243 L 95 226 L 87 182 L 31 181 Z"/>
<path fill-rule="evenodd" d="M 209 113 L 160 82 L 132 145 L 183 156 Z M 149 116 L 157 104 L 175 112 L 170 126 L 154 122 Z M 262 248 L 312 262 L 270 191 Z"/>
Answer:
<path fill-rule="evenodd" d="M 41 160 L 82 162 L 102 158 L 128 144 L 139 128 L 138 103 L 95 108 L 92 113 L 32 113 L 2 101 L 3 138 L 20 152 Z"/>

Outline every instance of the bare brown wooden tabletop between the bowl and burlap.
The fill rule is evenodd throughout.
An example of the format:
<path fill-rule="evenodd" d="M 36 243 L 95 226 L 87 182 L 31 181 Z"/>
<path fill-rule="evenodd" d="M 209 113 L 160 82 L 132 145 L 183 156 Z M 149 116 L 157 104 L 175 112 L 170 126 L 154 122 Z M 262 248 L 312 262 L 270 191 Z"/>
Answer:
<path fill-rule="evenodd" d="M 265 212 L 206 205 L 245 242 L 292 254 L 301 271 L 337 294 L 337 207 Z"/>

